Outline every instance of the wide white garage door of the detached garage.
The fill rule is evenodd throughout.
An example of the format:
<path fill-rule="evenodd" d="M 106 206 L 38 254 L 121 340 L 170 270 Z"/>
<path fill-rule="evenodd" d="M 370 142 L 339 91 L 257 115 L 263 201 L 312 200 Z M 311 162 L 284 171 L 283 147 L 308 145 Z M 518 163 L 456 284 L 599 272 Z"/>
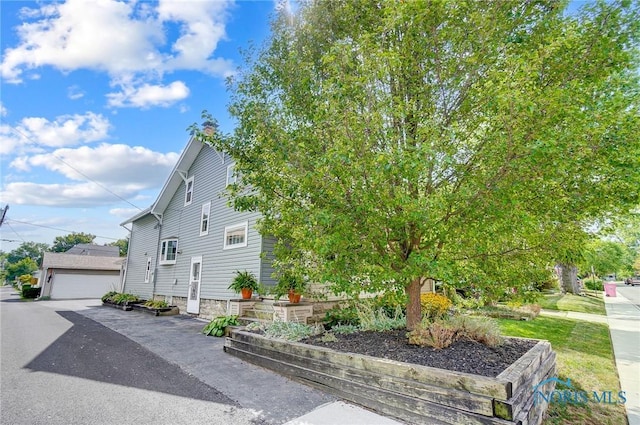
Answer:
<path fill-rule="evenodd" d="M 100 298 L 120 287 L 119 275 L 56 273 L 51 299 Z"/>

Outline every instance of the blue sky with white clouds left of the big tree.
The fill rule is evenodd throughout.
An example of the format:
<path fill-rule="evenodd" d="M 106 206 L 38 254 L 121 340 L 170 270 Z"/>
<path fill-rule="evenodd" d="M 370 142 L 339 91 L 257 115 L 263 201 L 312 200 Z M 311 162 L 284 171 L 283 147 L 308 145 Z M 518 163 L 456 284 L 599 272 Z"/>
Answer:
<path fill-rule="evenodd" d="M 123 238 L 260 45 L 274 1 L 2 1 L 0 249 L 69 232 Z M 108 189 L 108 190 L 107 190 Z"/>

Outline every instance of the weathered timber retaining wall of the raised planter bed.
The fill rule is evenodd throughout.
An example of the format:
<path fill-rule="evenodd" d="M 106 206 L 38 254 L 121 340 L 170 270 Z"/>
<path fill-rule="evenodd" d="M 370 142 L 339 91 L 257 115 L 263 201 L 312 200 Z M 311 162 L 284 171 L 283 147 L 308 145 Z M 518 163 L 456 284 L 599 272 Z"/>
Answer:
<path fill-rule="evenodd" d="M 547 341 L 495 378 L 344 353 L 233 328 L 224 350 L 251 363 L 410 423 L 540 424 L 533 386 L 555 374 Z M 539 391 L 552 391 L 551 381 Z"/>

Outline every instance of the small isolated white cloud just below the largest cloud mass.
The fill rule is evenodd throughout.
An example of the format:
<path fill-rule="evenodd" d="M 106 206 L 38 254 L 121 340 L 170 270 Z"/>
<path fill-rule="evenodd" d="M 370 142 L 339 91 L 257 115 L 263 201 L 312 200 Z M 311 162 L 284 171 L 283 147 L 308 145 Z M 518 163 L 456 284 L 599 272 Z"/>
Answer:
<path fill-rule="evenodd" d="M 182 81 L 174 81 L 168 86 L 143 84 L 134 87 L 123 85 L 121 92 L 107 94 L 109 106 L 142 109 L 150 106 L 171 106 L 188 96 L 189 88 Z"/>

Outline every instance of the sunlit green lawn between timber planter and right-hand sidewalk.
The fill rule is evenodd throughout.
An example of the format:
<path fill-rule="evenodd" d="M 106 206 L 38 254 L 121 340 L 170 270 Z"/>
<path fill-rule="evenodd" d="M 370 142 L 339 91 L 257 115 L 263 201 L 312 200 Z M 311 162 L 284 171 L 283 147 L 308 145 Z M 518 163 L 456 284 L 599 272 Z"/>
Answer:
<path fill-rule="evenodd" d="M 582 297 L 576 297 L 582 298 Z M 545 307 L 546 308 L 546 307 Z M 531 321 L 499 319 L 506 336 L 546 339 L 557 358 L 557 376 L 573 389 L 620 391 L 609 328 L 605 324 L 538 316 Z M 625 424 L 624 406 L 551 404 L 545 424 Z"/>

